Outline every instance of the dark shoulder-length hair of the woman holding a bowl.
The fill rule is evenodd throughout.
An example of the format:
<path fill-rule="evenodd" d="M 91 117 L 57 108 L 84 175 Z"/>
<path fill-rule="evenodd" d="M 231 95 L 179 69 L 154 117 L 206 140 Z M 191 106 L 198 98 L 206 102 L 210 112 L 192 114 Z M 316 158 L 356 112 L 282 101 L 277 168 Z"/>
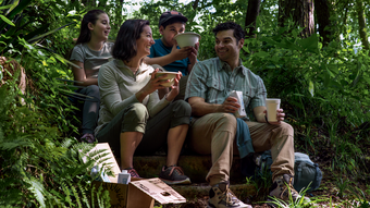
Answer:
<path fill-rule="evenodd" d="M 149 25 L 149 21 L 127 20 L 121 25 L 112 49 L 114 59 L 131 61 L 137 54 L 136 40 L 140 38 L 145 25 Z"/>

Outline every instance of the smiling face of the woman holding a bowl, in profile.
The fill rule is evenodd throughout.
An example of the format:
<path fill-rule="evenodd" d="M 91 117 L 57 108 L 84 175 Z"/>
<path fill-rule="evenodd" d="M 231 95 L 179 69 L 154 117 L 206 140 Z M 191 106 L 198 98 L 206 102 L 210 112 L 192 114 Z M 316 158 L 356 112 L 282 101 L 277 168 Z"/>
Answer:
<path fill-rule="evenodd" d="M 143 27 L 140 37 L 136 39 L 137 56 L 140 58 L 150 54 L 150 47 L 156 44 L 152 39 L 151 28 L 149 25 Z"/>

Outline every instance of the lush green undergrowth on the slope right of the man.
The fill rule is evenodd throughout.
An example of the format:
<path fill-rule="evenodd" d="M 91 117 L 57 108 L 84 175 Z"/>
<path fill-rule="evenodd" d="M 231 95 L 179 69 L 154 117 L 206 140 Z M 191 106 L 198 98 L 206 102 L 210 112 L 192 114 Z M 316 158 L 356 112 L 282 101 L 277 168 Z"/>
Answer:
<path fill-rule="evenodd" d="M 283 100 L 303 149 L 311 155 L 331 149 L 340 171 L 367 170 L 366 148 L 359 143 L 369 142 L 369 136 L 356 129 L 370 119 L 370 59 L 350 45 L 341 48 L 333 41 L 321 48 L 317 35 L 301 39 L 299 32 L 294 25 L 261 27 L 257 38 L 246 40 L 244 65 L 263 78 L 269 97 Z"/>

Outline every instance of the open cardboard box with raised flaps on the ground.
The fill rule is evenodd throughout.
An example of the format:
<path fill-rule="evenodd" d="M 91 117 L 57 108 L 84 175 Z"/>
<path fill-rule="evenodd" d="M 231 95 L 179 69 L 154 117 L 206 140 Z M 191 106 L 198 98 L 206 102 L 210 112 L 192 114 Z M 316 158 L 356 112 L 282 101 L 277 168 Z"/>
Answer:
<path fill-rule="evenodd" d="M 163 183 L 160 179 L 133 180 L 130 184 L 118 184 L 118 175 L 121 172 L 108 143 L 97 144 L 91 151 L 108 149 L 114 176 L 109 176 L 111 183 L 94 181 L 92 185 L 98 188 L 102 186 L 109 191 L 111 207 L 122 208 L 152 208 L 155 200 L 160 204 L 186 203 L 186 199 L 175 192 L 171 186 Z"/>

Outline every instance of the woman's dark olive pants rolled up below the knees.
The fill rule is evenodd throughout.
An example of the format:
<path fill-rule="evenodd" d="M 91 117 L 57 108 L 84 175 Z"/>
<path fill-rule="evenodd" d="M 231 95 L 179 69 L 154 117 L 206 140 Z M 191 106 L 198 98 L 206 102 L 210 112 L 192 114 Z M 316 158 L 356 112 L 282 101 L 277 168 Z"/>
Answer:
<path fill-rule="evenodd" d="M 177 100 L 149 119 L 143 103 L 133 103 L 122 110 L 96 135 L 99 143 L 109 143 L 115 156 L 120 156 L 120 135 L 124 132 L 144 133 L 135 155 L 153 155 L 166 143 L 169 130 L 190 123 L 192 107 L 184 100 Z"/>

